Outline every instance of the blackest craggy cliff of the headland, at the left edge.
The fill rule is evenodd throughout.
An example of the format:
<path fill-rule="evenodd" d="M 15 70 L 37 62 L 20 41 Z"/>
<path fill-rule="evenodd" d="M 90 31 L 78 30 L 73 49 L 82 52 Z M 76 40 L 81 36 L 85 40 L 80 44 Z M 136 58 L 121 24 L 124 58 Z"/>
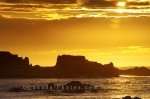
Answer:
<path fill-rule="evenodd" d="M 7 51 L 0 51 L 0 78 L 25 77 L 31 67 L 28 57 L 18 57 Z"/>

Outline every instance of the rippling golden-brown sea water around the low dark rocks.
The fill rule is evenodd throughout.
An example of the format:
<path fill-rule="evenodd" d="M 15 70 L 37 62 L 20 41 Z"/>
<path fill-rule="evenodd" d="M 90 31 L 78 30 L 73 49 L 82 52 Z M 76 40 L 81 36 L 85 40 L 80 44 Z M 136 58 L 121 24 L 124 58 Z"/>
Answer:
<path fill-rule="evenodd" d="M 58 96 L 44 91 L 9 91 L 13 87 L 22 87 L 23 85 L 66 84 L 74 80 L 101 87 L 103 90 L 97 93 L 59 93 Z M 150 76 L 120 76 L 118 78 L 102 79 L 0 79 L 0 99 L 121 99 L 127 95 L 150 99 Z"/>

